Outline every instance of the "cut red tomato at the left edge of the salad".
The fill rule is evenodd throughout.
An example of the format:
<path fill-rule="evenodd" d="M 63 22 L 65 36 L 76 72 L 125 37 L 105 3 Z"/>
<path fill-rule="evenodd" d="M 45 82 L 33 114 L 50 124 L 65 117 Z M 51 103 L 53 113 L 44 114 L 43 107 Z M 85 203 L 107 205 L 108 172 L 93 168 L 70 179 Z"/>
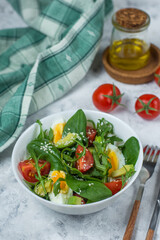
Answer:
<path fill-rule="evenodd" d="M 38 165 L 40 167 L 43 166 L 43 164 L 46 163 L 44 165 L 44 167 L 41 169 L 41 175 L 46 175 L 49 173 L 50 171 L 50 163 L 44 160 L 38 160 Z M 33 159 L 29 159 L 29 160 L 25 160 L 22 161 L 18 164 L 18 169 L 21 172 L 22 176 L 24 177 L 24 179 L 28 182 L 37 182 L 38 180 L 35 178 L 35 175 L 37 175 L 37 170 L 35 168 L 35 162 Z"/>

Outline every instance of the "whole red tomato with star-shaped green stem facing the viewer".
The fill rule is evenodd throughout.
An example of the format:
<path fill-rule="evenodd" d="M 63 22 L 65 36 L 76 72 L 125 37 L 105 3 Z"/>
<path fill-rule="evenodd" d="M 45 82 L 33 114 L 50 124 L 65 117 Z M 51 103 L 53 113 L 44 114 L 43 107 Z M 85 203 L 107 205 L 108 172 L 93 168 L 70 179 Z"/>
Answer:
<path fill-rule="evenodd" d="M 140 117 L 152 120 L 160 114 L 160 100 L 153 94 L 144 94 L 137 99 L 135 110 Z"/>

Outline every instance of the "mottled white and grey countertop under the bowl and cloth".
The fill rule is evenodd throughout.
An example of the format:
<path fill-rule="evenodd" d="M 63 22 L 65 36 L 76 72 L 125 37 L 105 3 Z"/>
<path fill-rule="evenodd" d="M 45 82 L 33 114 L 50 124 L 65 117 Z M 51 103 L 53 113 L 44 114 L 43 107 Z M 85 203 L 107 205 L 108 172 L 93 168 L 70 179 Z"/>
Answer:
<path fill-rule="evenodd" d="M 160 47 L 160 1 L 159 0 L 114 0 L 115 9 L 138 7 L 149 13 L 151 25 L 150 40 Z M 0 1 L 0 29 L 22 27 L 25 24 L 5 1 Z M 37 119 L 68 109 L 96 110 L 92 103 L 93 91 L 103 83 L 114 83 L 124 92 L 122 103 L 127 108 L 118 107 L 111 114 L 128 123 L 139 135 L 143 146 L 159 144 L 160 117 L 146 121 L 135 114 L 136 98 L 144 93 L 160 96 L 160 88 L 154 81 L 142 85 L 128 85 L 112 79 L 102 65 L 103 50 L 110 42 L 110 18 L 105 21 L 104 35 L 99 52 L 87 76 L 60 100 L 28 117 L 25 129 Z M 139 179 L 110 206 L 104 210 L 85 216 L 68 216 L 56 213 L 25 192 L 16 181 L 12 167 L 11 154 L 14 144 L 0 154 L 0 239 L 1 240 L 121 240 L 128 223 L 132 206 L 139 186 Z M 160 159 L 159 159 L 160 160 Z M 159 161 L 160 162 L 160 161 Z M 147 182 L 141 202 L 133 239 L 145 239 L 158 193 L 160 164 Z M 159 184 L 156 184 L 156 183 Z M 157 224 L 154 239 L 160 239 L 160 224 Z"/>

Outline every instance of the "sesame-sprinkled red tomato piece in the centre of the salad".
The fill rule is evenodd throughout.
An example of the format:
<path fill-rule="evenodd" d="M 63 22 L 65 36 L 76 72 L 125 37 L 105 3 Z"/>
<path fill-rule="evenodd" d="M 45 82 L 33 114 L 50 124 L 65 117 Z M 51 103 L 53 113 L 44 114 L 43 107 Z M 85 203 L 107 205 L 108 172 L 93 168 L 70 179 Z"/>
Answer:
<path fill-rule="evenodd" d="M 76 158 L 79 158 L 79 154 L 82 152 L 83 152 L 83 147 L 78 145 L 76 149 Z M 93 159 L 92 153 L 86 148 L 86 154 L 76 161 L 75 167 L 80 172 L 83 173 L 88 171 L 91 167 L 93 167 L 93 164 L 94 164 L 94 159 Z"/>

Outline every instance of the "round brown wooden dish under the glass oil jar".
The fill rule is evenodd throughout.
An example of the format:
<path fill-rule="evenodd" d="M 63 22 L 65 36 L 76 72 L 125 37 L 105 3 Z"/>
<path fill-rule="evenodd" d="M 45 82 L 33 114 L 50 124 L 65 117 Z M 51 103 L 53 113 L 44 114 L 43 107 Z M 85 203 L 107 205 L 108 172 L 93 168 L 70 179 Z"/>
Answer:
<path fill-rule="evenodd" d="M 158 47 L 151 44 L 148 64 L 135 71 L 121 70 L 113 67 L 109 62 L 109 47 L 103 52 L 102 60 L 106 71 L 115 80 L 128 84 L 142 84 L 153 80 L 154 73 L 160 66 L 160 50 Z"/>

